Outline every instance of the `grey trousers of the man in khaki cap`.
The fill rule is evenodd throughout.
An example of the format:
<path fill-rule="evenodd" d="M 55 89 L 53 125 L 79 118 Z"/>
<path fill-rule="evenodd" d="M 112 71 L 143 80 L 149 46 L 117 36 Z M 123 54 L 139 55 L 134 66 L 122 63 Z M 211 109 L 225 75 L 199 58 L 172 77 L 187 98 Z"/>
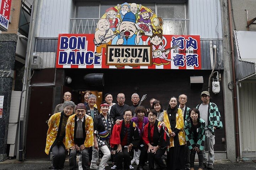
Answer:
<path fill-rule="evenodd" d="M 205 149 L 202 150 L 204 163 L 213 164 L 214 163 L 214 148 L 215 145 L 215 135 L 212 135 L 210 130 L 205 130 L 205 149 L 208 149 L 208 161 L 205 155 Z"/>

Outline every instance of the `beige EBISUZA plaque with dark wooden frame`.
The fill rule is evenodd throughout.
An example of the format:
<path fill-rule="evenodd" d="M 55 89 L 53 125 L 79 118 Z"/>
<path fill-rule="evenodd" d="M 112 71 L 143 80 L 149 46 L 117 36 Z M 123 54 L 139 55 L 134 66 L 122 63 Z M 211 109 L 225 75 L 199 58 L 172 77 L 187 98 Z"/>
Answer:
<path fill-rule="evenodd" d="M 151 66 L 151 46 L 107 46 L 106 65 Z"/>

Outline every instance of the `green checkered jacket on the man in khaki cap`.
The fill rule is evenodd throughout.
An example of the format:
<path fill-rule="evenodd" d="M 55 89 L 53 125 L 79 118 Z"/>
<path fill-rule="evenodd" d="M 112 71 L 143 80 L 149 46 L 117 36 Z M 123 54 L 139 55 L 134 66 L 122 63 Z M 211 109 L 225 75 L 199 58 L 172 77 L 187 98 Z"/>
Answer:
<path fill-rule="evenodd" d="M 200 104 L 196 106 L 198 109 Z M 219 109 L 215 103 L 209 102 L 208 104 L 208 129 L 211 131 L 211 133 L 214 135 L 214 128 L 220 129 L 223 128 L 222 121 L 221 121 L 221 116 Z M 201 114 L 201 113 L 200 113 Z"/>

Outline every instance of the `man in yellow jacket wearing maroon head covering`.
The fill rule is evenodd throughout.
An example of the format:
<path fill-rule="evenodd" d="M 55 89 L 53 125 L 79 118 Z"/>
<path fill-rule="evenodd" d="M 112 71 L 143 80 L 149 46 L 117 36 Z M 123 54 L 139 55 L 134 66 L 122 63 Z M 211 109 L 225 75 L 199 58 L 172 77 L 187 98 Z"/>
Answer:
<path fill-rule="evenodd" d="M 76 106 L 76 114 L 69 117 L 66 126 L 66 148 L 69 149 L 69 165 L 77 168 L 77 151 L 82 155 L 83 170 L 89 169 L 89 147 L 93 146 L 93 120 L 86 114 L 83 103 Z"/>

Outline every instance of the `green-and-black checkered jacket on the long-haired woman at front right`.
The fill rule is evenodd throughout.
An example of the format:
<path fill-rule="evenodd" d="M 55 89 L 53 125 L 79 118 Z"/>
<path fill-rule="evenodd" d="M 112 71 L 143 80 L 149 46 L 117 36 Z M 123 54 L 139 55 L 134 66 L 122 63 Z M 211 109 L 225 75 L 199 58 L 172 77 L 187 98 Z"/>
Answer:
<path fill-rule="evenodd" d="M 191 119 L 185 120 L 185 133 L 186 133 L 186 142 L 188 149 L 193 149 L 195 146 L 198 147 L 200 150 L 204 150 L 204 143 L 205 143 L 205 121 L 199 119 L 199 127 L 197 128 L 197 138 L 195 139 L 195 134 L 192 129 L 193 122 Z"/>

